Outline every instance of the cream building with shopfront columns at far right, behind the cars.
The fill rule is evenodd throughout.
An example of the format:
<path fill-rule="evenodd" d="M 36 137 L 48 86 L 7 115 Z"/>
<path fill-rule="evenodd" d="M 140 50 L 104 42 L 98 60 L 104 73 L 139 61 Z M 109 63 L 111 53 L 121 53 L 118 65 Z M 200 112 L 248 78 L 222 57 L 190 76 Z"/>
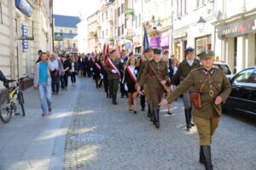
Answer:
<path fill-rule="evenodd" d="M 256 3 L 253 0 L 217 0 L 216 54 L 236 73 L 256 65 Z M 232 7 L 232 10 L 230 10 Z"/>

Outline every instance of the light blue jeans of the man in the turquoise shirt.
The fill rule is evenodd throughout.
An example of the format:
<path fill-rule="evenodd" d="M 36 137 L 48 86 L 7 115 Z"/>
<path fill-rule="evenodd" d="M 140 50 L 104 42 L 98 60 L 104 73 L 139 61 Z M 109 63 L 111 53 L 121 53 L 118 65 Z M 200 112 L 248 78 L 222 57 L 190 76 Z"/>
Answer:
<path fill-rule="evenodd" d="M 39 82 L 38 89 L 41 100 L 41 108 L 43 111 L 48 111 L 48 108 L 52 107 L 51 86 L 47 82 Z"/>

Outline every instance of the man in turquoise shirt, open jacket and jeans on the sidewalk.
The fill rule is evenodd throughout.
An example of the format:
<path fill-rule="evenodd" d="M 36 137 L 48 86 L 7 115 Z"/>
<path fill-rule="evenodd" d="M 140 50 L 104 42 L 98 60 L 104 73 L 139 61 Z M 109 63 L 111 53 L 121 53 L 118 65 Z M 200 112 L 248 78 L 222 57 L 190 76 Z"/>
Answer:
<path fill-rule="evenodd" d="M 46 53 L 41 53 L 34 68 L 34 88 L 38 88 L 41 108 L 43 110 L 42 116 L 52 111 L 52 89 L 51 76 L 49 66 L 51 62 Z"/>

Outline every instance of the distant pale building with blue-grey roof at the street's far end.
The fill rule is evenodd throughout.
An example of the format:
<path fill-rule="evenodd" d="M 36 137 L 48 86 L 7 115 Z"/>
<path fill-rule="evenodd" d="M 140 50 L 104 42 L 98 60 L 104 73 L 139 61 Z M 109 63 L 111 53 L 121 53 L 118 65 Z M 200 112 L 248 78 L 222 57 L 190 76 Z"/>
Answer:
<path fill-rule="evenodd" d="M 78 52 L 78 27 L 80 19 L 76 16 L 54 14 L 55 51 Z"/>

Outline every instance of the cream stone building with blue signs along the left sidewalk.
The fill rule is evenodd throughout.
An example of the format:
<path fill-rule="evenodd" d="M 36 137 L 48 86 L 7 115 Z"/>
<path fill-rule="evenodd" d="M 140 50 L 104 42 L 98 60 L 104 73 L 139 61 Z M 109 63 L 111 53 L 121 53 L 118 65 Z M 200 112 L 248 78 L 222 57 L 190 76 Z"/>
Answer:
<path fill-rule="evenodd" d="M 0 69 L 9 78 L 32 77 L 38 50 L 53 48 L 52 0 L 0 3 Z"/>

